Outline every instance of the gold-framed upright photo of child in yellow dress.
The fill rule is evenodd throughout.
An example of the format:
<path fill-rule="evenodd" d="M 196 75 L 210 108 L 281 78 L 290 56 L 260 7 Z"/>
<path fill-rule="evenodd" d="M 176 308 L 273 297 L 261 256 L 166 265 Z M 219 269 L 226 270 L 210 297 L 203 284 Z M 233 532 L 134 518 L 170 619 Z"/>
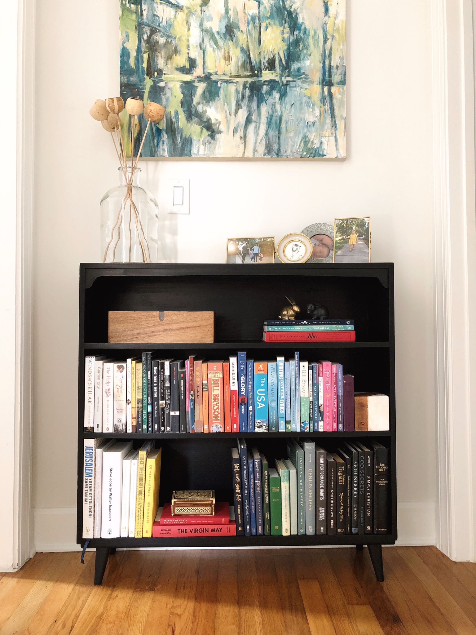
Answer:
<path fill-rule="evenodd" d="M 357 223 L 357 221 L 359 221 Z M 363 223 L 361 221 L 364 221 Z M 346 225 L 343 225 L 343 222 Z M 371 262 L 370 250 L 371 250 L 371 217 L 369 216 L 354 216 L 344 218 L 334 218 L 334 250 L 333 250 L 333 262 Z M 356 228 L 357 225 L 357 228 Z M 350 234 L 361 232 L 363 239 L 359 240 L 357 235 L 357 241 L 352 248 L 350 246 Z M 357 244 L 365 245 L 364 248 L 357 248 Z M 348 249 L 347 249 L 348 246 Z M 355 253 L 354 253 L 355 252 Z"/>

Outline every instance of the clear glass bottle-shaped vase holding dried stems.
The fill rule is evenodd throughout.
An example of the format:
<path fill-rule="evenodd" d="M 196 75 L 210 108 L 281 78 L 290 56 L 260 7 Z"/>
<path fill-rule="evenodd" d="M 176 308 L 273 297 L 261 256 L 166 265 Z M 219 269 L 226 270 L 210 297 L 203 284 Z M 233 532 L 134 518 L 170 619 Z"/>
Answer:
<path fill-rule="evenodd" d="M 132 182 L 119 168 L 119 185 L 104 194 L 101 210 L 103 262 L 157 262 L 159 206 L 154 196 L 139 187 L 140 168 Z"/>

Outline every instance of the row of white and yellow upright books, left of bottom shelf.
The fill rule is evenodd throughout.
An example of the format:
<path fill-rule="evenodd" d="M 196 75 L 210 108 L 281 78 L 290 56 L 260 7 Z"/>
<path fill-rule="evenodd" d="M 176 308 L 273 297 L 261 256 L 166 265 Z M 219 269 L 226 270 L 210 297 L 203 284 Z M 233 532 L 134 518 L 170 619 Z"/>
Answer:
<path fill-rule="evenodd" d="M 154 441 L 84 439 L 83 538 L 152 537 L 161 453 Z"/>

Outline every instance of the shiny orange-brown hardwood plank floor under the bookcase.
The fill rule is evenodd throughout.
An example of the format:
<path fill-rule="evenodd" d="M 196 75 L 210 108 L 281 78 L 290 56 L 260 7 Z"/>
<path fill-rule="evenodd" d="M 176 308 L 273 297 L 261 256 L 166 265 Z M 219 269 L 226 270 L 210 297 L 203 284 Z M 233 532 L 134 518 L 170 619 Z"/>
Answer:
<path fill-rule="evenodd" d="M 434 547 L 37 554 L 0 573 L 0 634 L 476 633 L 476 564 Z"/>

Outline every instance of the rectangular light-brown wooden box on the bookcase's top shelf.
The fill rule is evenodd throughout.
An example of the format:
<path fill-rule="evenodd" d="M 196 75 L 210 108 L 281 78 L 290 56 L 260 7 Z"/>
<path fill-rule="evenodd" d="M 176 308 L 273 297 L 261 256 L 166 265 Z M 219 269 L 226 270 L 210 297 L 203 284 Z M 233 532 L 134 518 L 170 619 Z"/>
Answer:
<path fill-rule="evenodd" d="M 213 342 L 213 311 L 109 311 L 108 342 Z"/>

